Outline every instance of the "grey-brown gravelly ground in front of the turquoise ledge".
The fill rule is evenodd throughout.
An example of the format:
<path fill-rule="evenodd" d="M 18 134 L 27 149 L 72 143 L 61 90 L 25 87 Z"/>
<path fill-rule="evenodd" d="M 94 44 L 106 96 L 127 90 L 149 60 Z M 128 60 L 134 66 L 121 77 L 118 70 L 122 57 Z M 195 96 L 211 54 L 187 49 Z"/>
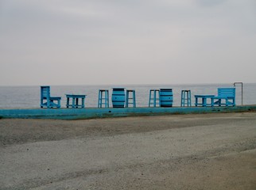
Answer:
<path fill-rule="evenodd" d="M 0 189 L 256 189 L 256 112 L 0 120 Z"/>

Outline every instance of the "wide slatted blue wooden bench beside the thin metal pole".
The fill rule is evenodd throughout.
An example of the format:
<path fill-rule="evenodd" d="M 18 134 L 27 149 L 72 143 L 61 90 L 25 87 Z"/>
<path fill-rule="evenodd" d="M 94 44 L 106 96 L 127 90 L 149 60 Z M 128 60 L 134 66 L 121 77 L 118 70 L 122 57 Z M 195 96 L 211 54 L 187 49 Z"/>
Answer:
<path fill-rule="evenodd" d="M 235 88 L 219 88 L 218 96 L 211 97 L 211 106 L 235 106 Z"/>

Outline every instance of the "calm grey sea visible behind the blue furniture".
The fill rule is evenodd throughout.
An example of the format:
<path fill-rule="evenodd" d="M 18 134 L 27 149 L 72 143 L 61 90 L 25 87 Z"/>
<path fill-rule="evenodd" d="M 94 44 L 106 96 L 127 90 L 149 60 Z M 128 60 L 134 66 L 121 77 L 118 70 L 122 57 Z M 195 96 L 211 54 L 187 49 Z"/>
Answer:
<path fill-rule="evenodd" d="M 65 108 L 65 94 L 85 94 L 85 107 L 97 108 L 99 89 L 108 89 L 111 94 L 113 88 L 134 89 L 137 107 L 149 106 L 150 89 L 173 89 L 173 106 L 180 106 L 181 90 L 190 89 L 192 105 L 195 104 L 194 95 L 217 95 L 218 88 L 234 87 L 233 84 L 165 84 L 165 85 L 105 85 L 105 86 L 51 86 L 51 96 L 61 97 L 61 107 Z M 256 83 L 237 83 L 236 105 L 256 105 Z M 40 86 L 0 86 L 0 108 L 40 108 Z"/>

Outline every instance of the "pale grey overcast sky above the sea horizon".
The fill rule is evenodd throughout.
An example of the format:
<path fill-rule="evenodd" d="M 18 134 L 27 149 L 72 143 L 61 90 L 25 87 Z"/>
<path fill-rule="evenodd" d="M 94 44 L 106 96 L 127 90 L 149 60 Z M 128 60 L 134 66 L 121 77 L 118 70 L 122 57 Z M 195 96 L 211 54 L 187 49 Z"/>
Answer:
<path fill-rule="evenodd" d="M 256 82 L 255 0 L 0 0 L 0 86 Z"/>

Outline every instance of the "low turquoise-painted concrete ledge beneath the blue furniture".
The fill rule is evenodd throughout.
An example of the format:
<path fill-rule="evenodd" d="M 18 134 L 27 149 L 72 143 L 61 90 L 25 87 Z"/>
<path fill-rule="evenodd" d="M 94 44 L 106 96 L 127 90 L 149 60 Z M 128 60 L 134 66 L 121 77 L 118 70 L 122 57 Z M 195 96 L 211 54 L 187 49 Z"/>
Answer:
<path fill-rule="evenodd" d="M 125 116 L 161 116 L 169 114 L 250 112 L 256 105 L 235 107 L 172 107 L 172 108 L 21 108 L 0 109 L 0 118 L 85 120 Z"/>

